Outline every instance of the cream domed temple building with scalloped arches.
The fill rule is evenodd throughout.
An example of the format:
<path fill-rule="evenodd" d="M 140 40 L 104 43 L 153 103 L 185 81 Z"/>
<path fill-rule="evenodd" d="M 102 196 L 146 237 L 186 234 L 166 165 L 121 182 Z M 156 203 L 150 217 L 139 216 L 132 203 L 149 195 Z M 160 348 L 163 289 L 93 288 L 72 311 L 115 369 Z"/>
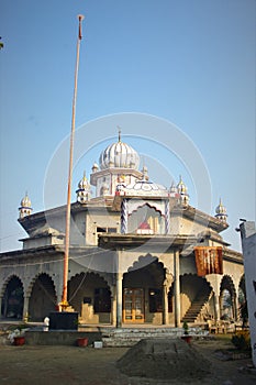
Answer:
<path fill-rule="evenodd" d="M 152 182 L 121 135 L 76 194 L 68 304 L 81 323 L 237 320 L 243 255 L 221 235 L 229 227 L 222 201 L 211 216 L 190 206 L 181 177 L 167 187 Z M 43 321 L 62 301 L 66 206 L 33 213 L 26 195 L 19 212 L 27 238 L 21 250 L 0 254 L 1 317 Z"/>

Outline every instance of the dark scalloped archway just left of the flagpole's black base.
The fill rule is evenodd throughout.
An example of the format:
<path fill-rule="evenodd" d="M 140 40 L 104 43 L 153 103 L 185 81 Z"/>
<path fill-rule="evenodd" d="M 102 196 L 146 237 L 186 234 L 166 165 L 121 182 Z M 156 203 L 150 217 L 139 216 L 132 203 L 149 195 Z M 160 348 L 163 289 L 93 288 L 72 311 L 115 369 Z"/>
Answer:
<path fill-rule="evenodd" d="M 33 284 L 29 304 L 29 317 L 32 321 L 43 321 L 56 309 L 57 297 L 53 279 L 45 273 L 37 276 Z"/>

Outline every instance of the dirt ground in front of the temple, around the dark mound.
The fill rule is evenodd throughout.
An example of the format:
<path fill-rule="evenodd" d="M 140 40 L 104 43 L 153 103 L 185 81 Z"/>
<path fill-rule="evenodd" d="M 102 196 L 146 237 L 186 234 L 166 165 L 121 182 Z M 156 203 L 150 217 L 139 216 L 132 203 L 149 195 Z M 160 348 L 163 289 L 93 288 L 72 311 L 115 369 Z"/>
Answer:
<path fill-rule="evenodd" d="M 129 348 L 0 345 L 0 384 L 25 385 L 253 385 L 256 372 L 251 359 L 227 360 L 226 352 L 234 349 L 225 338 L 192 341 L 210 362 L 204 378 L 153 380 L 129 377 L 116 367 L 116 361 Z"/>

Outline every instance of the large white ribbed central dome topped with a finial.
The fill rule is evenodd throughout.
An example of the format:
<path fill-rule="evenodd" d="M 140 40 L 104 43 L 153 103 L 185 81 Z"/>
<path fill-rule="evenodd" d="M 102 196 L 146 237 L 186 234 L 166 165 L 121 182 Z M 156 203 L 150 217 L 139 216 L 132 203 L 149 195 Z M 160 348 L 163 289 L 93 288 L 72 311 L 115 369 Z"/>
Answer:
<path fill-rule="evenodd" d="M 119 132 L 119 141 L 110 144 L 99 158 L 100 169 L 105 168 L 133 168 L 138 169 L 140 156 L 137 152 L 129 144 L 121 141 L 121 132 Z"/>

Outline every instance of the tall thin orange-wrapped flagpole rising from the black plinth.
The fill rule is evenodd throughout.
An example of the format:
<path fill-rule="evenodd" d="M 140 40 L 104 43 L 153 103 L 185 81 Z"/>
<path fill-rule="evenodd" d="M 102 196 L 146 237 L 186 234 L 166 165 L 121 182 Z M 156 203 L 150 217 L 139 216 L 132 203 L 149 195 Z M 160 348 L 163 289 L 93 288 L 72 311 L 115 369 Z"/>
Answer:
<path fill-rule="evenodd" d="M 70 239 L 70 209 L 71 209 L 71 182 L 73 182 L 73 150 L 74 150 L 74 136 L 76 124 L 76 100 L 77 100 L 77 78 L 79 67 L 79 53 L 81 42 L 81 22 L 85 19 L 82 14 L 78 15 L 79 30 L 77 37 L 77 59 L 75 68 L 75 86 L 73 98 L 73 118 L 71 118 L 71 134 L 70 134 L 70 148 L 69 148 L 69 170 L 68 170 L 68 186 L 67 186 L 67 211 L 66 211 L 66 237 L 65 237 L 65 255 L 64 255 L 64 271 L 63 271 L 63 297 L 59 304 L 60 310 L 65 310 L 68 307 L 67 300 L 67 282 L 68 282 L 68 258 L 69 258 L 69 239 Z"/>

